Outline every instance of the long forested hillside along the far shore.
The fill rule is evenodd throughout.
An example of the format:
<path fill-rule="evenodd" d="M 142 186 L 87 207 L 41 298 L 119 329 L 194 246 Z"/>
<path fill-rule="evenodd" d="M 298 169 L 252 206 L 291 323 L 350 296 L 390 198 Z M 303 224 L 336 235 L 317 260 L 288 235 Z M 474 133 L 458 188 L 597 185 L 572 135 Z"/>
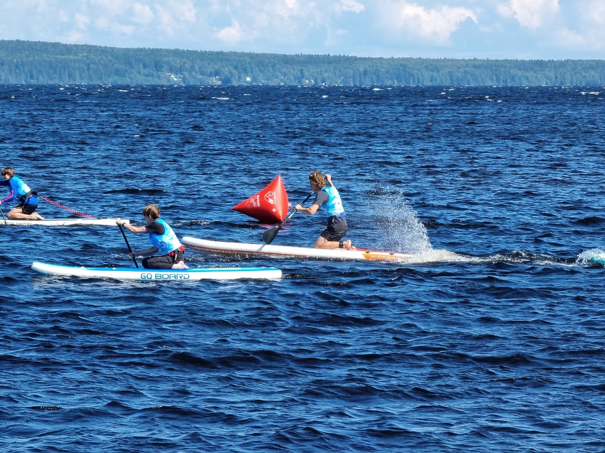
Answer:
<path fill-rule="evenodd" d="M 605 85 L 605 60 L 283 55 L 0 40 L 0 83 Z"/>

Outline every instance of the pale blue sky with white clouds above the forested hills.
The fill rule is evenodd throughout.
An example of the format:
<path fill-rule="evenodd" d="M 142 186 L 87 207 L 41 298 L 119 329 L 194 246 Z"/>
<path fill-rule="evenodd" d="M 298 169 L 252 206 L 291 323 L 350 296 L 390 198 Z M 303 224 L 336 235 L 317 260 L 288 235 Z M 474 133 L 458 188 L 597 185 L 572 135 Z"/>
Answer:
<path fill-rule="evenodd" d="M 0 39 L 369 57 L 605 59 L 605 0 L 0 0 Z"/>

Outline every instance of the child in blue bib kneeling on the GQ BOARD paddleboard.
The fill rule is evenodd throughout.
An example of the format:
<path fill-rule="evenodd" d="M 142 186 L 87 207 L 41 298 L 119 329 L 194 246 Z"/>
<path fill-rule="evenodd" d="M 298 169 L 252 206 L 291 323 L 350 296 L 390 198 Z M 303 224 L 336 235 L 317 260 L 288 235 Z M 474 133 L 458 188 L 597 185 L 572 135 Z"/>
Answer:
<path fill-rule="evenodd" d="M 158 205 L 147 205 L 143 208 L 143 217 L 145 217 L 145 226 L 133 226 L 129 223 L 123 223 L 119 217 L 116 219 L 118 225 L 123 225 L 132 233 L 149 233 L 151 247 L 138 252 L 131 252 L 131 257 L 135 255 L 151 255 L 160 252 L 160 256 L 151 256 L 143 259 L 143 268 L 146 269 L 189 269 L 183 259 L 185 247 L 178 242 L 177 235 L 164 220 L 160 219 L 160 208 Z"/>

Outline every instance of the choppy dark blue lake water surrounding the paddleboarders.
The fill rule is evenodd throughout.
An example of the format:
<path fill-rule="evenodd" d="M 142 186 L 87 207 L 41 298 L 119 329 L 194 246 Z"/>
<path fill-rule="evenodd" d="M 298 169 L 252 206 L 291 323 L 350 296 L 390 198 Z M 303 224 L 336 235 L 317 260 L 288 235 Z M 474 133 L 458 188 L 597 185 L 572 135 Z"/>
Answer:
<path fill-rule="evenodd" d="M 80 280 L 30 265 L 127 266 L 117 227 L 2 226 L 0 448 L 603 451 L 604 90 L 0 86 L 0 165 L 67 207 L 260 243 L 231 207 L 278 173 L 299 202 L 319 169 L 353 243 L 418 256 Z"/>

